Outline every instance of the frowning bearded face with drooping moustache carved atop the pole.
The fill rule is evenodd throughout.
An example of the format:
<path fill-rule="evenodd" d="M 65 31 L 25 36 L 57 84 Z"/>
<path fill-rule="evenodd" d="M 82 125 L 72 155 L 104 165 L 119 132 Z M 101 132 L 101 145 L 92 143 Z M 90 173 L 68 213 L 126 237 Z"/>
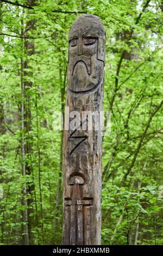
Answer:
<path fill-rule="evenodd" d="M 95 15 L 82 15 L 74 22 L 69 39 L 68 89 L 89 92 L 103 80 L 103 25 Z"/>

